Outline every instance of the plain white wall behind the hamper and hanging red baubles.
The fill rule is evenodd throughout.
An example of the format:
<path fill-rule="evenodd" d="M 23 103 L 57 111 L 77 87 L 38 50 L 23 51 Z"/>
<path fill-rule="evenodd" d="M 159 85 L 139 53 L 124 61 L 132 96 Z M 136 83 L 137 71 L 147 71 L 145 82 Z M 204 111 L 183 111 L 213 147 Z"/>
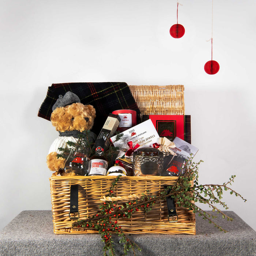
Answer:
<path fill-rule="evenodd" d="M 256 230 L 255 0 L 180 0 L 185 35 L 174 39 L 175 0 L 0 0 L 0 228 L 20 211 L 50 210 L 46 166 L 58 136 L 37 117 L 52 83 L 184 84 L 202 184 L 233 188 L 223 201 Z M 208 210 L 209 208 L 205 208 Z M 210 210 L 210 209 L 209 209 Z"/>

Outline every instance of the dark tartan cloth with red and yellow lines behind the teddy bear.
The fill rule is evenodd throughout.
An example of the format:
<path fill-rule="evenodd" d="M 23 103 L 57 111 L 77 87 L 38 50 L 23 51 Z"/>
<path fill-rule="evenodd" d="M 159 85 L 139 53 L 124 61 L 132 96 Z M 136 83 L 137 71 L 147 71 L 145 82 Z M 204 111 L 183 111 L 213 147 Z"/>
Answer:
<path fill-rule="evenodd" d="M 140 110 L 133 98 L 127 83 L 102 82 L 102 83 L 59 83 L 48 87 L 47 95 L 42 103 L 38 116 L 50 120 L 52 106 L 67 91 L 78 95 L 84 105 L 93 105 L 96 110 L 96 118 L 92 131 L 99 134 L 109 113 L 118 109 Z"/>

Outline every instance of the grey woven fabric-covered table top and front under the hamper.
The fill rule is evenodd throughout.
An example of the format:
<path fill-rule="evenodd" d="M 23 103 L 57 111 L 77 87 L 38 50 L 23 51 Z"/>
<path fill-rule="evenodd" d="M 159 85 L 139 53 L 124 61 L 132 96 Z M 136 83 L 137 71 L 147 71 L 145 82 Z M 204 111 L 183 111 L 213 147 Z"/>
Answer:
<path fill-rule="evenodd" d="M 212 213 L 212 212 L 211 212 Z M 228 230 L 219 231 L 214 225 L 196 216 L 196 235 L 131 235 L 142 252 L 137 256 L 253 256 L 256 255 L 256 232 L 232 211 L 225 211 L 233 222 L 215 222 Z M 118 237 L 114 237 L 118 243 Z M 99 234 L 54 234 L 51 211 L 22 211 L 0 232 L 0 255 L 103 255 Z M 122 246 L 116 245 L 116 255 Z M 130 253 L 129 255 L 133 255 Z"/>

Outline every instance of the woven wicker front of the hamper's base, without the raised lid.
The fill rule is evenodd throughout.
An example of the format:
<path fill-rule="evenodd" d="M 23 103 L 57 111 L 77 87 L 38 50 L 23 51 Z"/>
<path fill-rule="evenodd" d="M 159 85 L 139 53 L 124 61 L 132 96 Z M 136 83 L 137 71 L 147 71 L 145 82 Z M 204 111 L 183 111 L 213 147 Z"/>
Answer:
<path fill-rule="evenodd" d="M 79 219 L 92 217 L 99 212 L 100 199 L 106 195 L 115 177 L 111 176 L 52 176 L 50 189 L 52 195 L 52 212 L 55 234 L 90 234 L 98 233 L 92 229 L 76 229 L 72 223 L 76 220 L 69 218 L 70 186 L 79 185 Z M 164 185 L 173 185 L 176 177 L 146 176 L 121 177 L 114 187 L 113 196 L 127 197 L 141 195 L 147 189 L 153 195 L 160 196 Z M 118 201 L 121 206 L 126 201 Z M 155 234 L 195 234 L 195 214 L 187 208 L 177 207 L 178 222 L 169 223 L 166 200 L 158 201 L 152 210 L 144 214 L 143 210 L 136 211 L 132 218 L 118 219 L 125 233 L 155 233 Z M 114 220 L 114 218 L 112 218 Z"/>

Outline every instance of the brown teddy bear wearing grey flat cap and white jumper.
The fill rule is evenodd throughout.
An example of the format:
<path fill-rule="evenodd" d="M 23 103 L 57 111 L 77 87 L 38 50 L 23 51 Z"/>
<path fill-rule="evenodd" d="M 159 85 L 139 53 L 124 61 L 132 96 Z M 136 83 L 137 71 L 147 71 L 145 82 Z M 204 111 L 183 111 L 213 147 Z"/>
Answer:
<path fill-rule="evenodd" d="M 67 174 L 64 172 L 66 159 L 57 157 L 57 154 L 61 153 L 58 148 L 68 148 L 68 141 L 78 142 L 81 132 L 89 131 L 93 127 L 96 111 L 92 105 L 80 103 L 78 96 L 70 91 L 64 96 L 59 95 L 59 99 L 53 105 L 52 110 L 51 122 L 60 135 L 50 146 L 46 157 L 47 166 L 51 171 L 58 172 L 61 175 L 74 175 L 74 173 Z M 96 137 L 95 133 L 88 132 L 90 142 L 95 142 Z"/>

